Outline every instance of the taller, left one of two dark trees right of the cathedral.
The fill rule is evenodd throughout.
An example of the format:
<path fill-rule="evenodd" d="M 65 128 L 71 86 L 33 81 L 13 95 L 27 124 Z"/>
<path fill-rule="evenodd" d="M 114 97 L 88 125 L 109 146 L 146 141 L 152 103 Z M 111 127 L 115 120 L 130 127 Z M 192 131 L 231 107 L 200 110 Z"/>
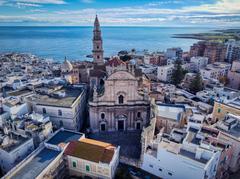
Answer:
<path fill-rule="evenodd" d="M 178 85 L 184 78 L 184 70 L 182 68 L 182 62 L 180 60 L 176 60 L 173 73 L 172 73 L 172 84 Z"/>

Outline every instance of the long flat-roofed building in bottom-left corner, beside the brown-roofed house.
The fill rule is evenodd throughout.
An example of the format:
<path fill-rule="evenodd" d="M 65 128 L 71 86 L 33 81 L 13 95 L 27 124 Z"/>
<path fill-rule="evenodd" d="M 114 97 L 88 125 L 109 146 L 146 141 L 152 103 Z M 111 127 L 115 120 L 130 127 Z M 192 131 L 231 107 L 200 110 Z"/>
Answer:
<path fill-rule="evenodd" d="M 63 152 L 70 141 L 85 138 L 84 134 L 60 129 L 50 139 L 10 170 L 3 179 L 63 178 Z"/>

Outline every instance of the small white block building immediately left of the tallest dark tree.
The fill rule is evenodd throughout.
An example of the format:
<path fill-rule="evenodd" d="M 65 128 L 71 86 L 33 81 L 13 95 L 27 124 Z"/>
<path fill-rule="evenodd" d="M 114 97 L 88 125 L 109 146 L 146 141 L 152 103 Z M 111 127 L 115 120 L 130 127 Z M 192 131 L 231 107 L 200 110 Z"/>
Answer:
<path fill-rule="evenodd" d="M 158 80 L 164 81 L 164 82 L 170 82 L 172 78 L 174 65 L 165 65 L 165 66 L 159 66 L 157 71 L 157 77 Z"/>

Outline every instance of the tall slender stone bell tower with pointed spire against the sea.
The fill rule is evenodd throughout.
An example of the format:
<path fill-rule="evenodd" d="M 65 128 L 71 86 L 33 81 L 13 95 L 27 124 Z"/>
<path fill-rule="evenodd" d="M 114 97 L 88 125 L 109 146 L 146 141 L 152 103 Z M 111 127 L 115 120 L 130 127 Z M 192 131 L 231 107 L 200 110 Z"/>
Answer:
<path fill-rule="evenodd" d="M 104 60 L 103 60 L 102 36 L 101 36 L 100 23 L 98 21 L 97 15 L 94 21 L 92 53 L 93 53 L 93 61 L 98 65 L 103 65 Z"/>

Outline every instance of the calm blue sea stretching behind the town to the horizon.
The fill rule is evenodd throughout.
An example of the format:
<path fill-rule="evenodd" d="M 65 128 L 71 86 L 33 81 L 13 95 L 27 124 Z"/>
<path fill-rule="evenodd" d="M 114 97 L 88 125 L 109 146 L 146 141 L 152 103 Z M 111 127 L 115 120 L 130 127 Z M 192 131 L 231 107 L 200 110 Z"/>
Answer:
<path fill-rule="evenodd" d="M 104 56 L 121 50 L 164 51 L 181 47 L 188 51 L 194 39 L 172 38 L 174 34 L 211 32 L 202 27 L 102 27 Z M 88 60 L 92 50 L 93 27 L 0 27 L 0 53 L 31 53 L 63 61 Z"/>

